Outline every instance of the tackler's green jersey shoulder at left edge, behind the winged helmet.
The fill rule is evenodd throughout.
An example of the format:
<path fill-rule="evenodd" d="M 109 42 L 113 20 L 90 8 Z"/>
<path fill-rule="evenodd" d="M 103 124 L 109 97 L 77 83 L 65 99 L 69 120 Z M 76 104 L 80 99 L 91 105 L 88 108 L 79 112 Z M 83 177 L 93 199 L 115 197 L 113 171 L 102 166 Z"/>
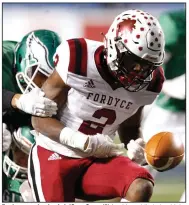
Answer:
<path fill-rule="evenodd" d="M 21 93 L 16 83 L 14 71 L 14 50 L 17 42 L 3 41 L 2 58 L 2 88 L 15 93 Z"/>

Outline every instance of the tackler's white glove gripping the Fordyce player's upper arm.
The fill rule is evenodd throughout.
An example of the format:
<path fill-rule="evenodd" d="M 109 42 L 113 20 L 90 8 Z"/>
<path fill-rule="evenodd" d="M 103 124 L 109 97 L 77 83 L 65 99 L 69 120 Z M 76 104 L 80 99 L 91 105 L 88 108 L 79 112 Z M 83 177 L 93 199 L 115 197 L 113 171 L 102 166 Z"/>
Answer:
<path fill-rule="evenodd" d="M 57 104 L 44 97 L 45 93 L 39 88 L 34 88 L 26 94 L 22 94 L 15 103 L 18 109 L 40 117 L 51 117 L 57 112 Z"/>

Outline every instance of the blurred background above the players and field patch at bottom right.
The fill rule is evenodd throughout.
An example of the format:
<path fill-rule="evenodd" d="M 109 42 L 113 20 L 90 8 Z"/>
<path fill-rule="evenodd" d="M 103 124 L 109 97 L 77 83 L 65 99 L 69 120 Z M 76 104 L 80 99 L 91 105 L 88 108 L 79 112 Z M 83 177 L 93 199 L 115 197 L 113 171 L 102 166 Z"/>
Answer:
<path fill-rule="evenodd" d="M 51 29 L 62 38 L 86 37 L 102 41 L 114 17 L 128 9 L 142 9 L 158 17 L 184 3 L 3 3 L 3 40 L 19 41 L 35 29 Z M 167 25 L 169 26 L 169 25 Z M 118 142 L 118 140 L 116 140 Z M 178 202 L 185 188 L 185 165 L 159 173 L 151 202 Z"/>

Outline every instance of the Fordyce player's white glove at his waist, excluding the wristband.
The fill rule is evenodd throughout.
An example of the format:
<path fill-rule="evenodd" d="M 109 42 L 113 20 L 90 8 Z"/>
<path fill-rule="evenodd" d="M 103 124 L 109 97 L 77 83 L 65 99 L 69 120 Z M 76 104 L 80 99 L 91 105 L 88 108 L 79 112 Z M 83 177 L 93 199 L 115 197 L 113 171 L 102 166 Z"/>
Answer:
<path fill-rule="evenodd" d="M 97 158 L 114 157 L 123 154 L 124 144 L 115 144 L 108 135 L 96 134 L 89 136 L 85 152 Z"/>

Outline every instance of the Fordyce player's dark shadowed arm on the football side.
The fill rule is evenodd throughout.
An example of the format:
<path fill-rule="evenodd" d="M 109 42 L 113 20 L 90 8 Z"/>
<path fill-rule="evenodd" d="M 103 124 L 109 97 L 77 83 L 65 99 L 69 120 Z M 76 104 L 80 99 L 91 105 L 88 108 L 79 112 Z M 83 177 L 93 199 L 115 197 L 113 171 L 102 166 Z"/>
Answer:
<path fill-rule="evenodd" d="M 125 147 L 130 140 L 142 138 L 140 130 L 142 110 L 143 107 L 140 107 L 134 115 L 125 120 L 118 128 L 120 141 L 125 144 Z"/>

